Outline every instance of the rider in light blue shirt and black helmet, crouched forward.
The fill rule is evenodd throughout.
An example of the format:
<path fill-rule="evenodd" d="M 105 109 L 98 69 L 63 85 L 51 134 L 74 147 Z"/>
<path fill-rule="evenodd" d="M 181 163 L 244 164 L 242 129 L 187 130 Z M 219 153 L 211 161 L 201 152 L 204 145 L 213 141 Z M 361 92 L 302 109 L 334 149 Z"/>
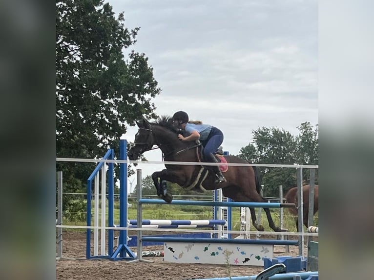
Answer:
<path fill-rule="evenodd" d="M 173 115 L 173 124 L 189 133 L 187 137 L 179 134 L 178 138 L 180 140 L 195 141 L 199 139 L 204 147 L 204 158 L 210 162 L 218 162 L 214 153 L 223 142 L 221 130 L 212 125 L 203 124 L 202 121 L 188 121 L 188 115 L 184 111 L 178 111 Z M 218 165 L 213 166 L 213 170 L 218 177 L 216 183 L 226 181 Z"/>

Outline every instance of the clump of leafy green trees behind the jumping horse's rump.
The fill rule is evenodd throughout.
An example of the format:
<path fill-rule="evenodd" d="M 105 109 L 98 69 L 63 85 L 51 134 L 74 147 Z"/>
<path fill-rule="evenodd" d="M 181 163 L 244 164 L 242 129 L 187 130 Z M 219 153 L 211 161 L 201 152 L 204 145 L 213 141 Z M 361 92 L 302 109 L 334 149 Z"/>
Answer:
<path fill-rule="evenodd" d="M 318 164 L 318 126 L 313 130 L 309 122 L 304 122 L 297 128 L 300 131 L 297 136 L 276 127 L 258 128 L 252 131 L 252 142 L 240 149 L 239 157 L 263 164 Z M 262 167 L 258 170 L 265 185 L 265 196 L 278 197 L 279 185 L 287 191 L 297 183 L 294 169 Z M 309 176 L 304 170 L 303 179 L 309 180 Z"/>

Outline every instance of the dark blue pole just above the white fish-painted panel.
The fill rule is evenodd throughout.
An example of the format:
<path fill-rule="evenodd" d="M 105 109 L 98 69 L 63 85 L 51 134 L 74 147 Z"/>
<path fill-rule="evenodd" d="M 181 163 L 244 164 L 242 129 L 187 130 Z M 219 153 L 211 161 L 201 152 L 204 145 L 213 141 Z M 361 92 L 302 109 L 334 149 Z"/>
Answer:
<path fill-rule="evenodd" d="M 145 241 L 154 242 L 190 242 L 190 243 L 231 243 L 231 244 L 257 244 L 257 245 L 298 245 L 297 240 L 265 240 L 265 239 L 218 239 L 218 238 L 178 238 L 178 237 L 152 237 L 145 236 Z"/>

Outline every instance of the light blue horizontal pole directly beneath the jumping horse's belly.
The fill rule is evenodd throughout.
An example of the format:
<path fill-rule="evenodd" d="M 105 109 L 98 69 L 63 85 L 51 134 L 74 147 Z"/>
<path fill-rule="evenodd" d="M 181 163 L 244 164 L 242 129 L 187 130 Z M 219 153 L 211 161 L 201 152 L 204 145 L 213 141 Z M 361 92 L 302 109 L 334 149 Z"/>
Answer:
<path fill-rule="evenodd" d="M 174 205 L 199 205 L 199 206 L 231 206 L 231 207 L 253 207 L 253 208 L 283 208 L 293 207 L 293 203 L 276 202 L 228 202 L 228 201 L 195 201 L 195 200 L 172 200 L 166 203 L 164 200 L 141 199 L 139 203 L 143 204 L 174 204 Z"/>

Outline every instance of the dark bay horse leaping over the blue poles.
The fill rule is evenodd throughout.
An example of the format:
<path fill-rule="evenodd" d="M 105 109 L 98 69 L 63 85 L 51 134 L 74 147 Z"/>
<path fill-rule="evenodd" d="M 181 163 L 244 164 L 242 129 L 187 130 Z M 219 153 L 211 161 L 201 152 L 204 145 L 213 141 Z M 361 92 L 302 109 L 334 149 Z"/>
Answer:
<path fill-rule="evenodd" d="M 196 162 L 196 165 L 166 164 L 166 169 L 152 174 L 152 180 L 157 189 L 157 195 L 170 203 L 172 197 L 167 194 L 166 181 L 177 183 L 181 187 L 191 190 L 215 190 L 222 188 L 223 195 L 234 201 L 267 202 L 260 196 L 260 184 L 255 167 L 229 166 L 224 173 L 226 182 L 215 184 L 213 166 L 204 166 L 201 162 L 201 145 L 194 141 L 183 142 L 178 139 L 181 131 L 174 128 L 172 119 L 162 117 L 156 122 L 145 119 L 136 122 L 139 130 L 135 135 L 135 145 L 128 151 L 130 160 L 137 160 L 141 154 L 158 146 L 166 161 Z M 235 156 L 225 156 L 227 162 L 248 163 Z M 262 225 L 257 224 L 254 208 L 249 208 L 253 226 L 258 231 L 264 231 Z M 270 228 L 280 231 L 271 218 L 269 208 L 264 208 Z"/>

